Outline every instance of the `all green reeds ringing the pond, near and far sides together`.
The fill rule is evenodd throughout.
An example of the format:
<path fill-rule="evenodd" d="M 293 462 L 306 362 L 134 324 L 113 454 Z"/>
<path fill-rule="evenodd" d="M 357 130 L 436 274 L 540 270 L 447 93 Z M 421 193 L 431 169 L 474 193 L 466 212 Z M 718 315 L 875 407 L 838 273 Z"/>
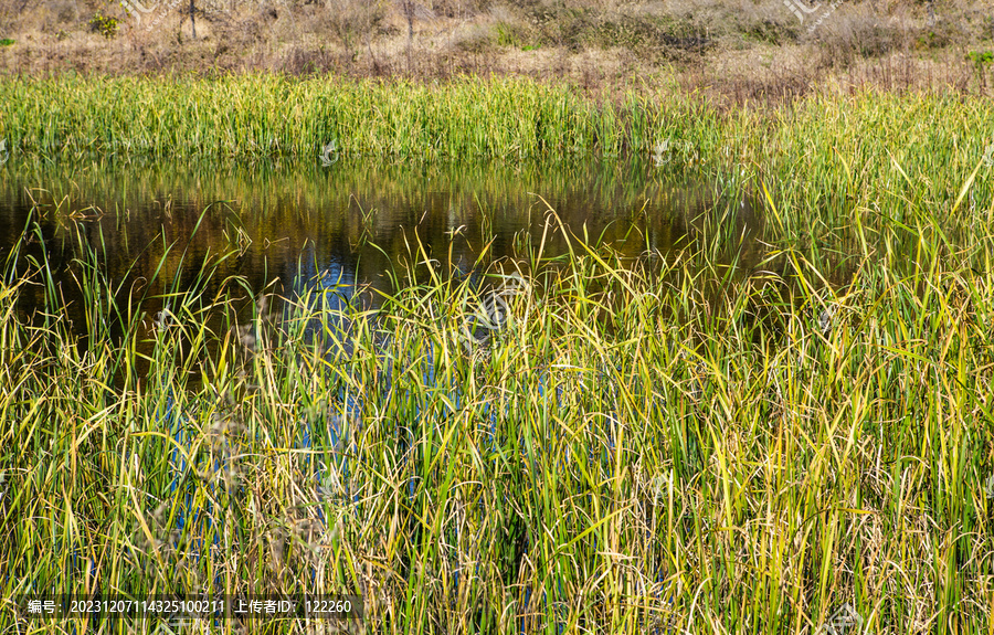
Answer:
<path fill-rule="evenodd" d="M 317 282 L 277 301 L 216 279 L 216 258 L 181 287 L 183 254 L 133 293 L 81 247 L 71 325 L 29 226 L 0 286 L 0 627 L 27 628 L 22 593 L 184 588 L 360 594 L 377 633 L 813 633 L 845 603 L 874 633 L 994 628 L 983 103 L 719 116 L 504 81 L 4 88 L 14 156 L 317 159 L 337 138 L 554 158 L 673 135 L 773 229 L 750 272 L 719 257 L 748 248 L 732 210 L 633 263 L 550 209 L 569 256 L 522 243 L 512 321 L 467 341 L 487 292 L 415 236 L 376 303 Z"/>

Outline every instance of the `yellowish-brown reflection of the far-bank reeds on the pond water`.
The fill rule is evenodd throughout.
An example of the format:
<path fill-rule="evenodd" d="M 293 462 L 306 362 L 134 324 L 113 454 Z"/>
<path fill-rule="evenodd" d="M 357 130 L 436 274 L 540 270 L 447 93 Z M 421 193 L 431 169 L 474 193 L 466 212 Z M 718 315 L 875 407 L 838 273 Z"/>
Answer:
<path fill-rule="evenodd" d="M 139 252 L 142 263 L 136 273 L 149 275 L 161 245 L 179 241 L 177 251 L 188 248 L 197 257 L 237 247 L 242 254 L 228 261 L 226 271 L 254 275 L 250 279 L 256 285 L 268 282 L 262 279 L 266 266 L 273 271 L 281 258 L 295 257 L 294 251 L 307 244 L 316 245 L 322 260 L 348 257 L 352 247 L 367 272 L 388 268 L 391 258 L 404 253 L 414 227 L 423 241 L 431 242 L 426 245 L 431 253 L 455 250 L 457 262 L 458 256 L 472 262 L 484 245 L 498 239 L 490 254 L 495 260 L 504 257 L 522 246 L 511 231 L 530 232 L 531 242 L 541 237 L 543 209 L 530 193 L 537 191 L 556 201 L 563 220 L 578 230 L 588 223 L 598 234 L 607 226 L 607 240 L 630 234 L 633 240 L 624 244 L 628 255 L 645 248 L 638 233 L 630 233 L 628 227 L 643 222 L 651 225 L 647 235 L 653 246 L 667 252 L 678 235 L 674 225 L 683 224 L 679 218 L 696 216 L 692 210 L 706 209 L 718 194 L 692 180 L 684 184 L 683 179 L 680 188 L 664 189 L 634 159 L 554 167 L 423 163 L 415 170 L 370 160 L 341 161 L 334 170 L 308 169 L 294 161 L 263 163 L 146 158 L 74 162 L 67 171 L 65 166 L 53 169 L 42 161 L 20 162 L 12 178 L 0 183 L 0 200 L 9 197 L 30 203 L 23 193 L 43 184 L 46 191 L 34 191 L 33 197 L 60 227 L 72 226 L 78 209 L 92 205 L 106 211 L 101 224 L 112 256 L 110 275 L 116 277 Z M 167 195 L 171 201 L 161 203 Z M 198 214 L 208 205 L 199 231 L 191 236 Z M 169 218 L 163 216 L 163 208 L 169 208 Z M 6 230 L 7 240 L 12 241 L 23 223 L 18 213 L 0 212 L 0 236 Z M 445 233 L 450 231 L 457 241 L 451 241 Z M 56 237 L 68 241 L 72 231 Z M 3 240 L 0 250 L 9 246 Z M 145 250 L 152 240 L 157 246 Z M 276 250 L 268 248 L 274 243 Z M 547 243 L 549 252 L 562 248 L 558 237 Z"/>

